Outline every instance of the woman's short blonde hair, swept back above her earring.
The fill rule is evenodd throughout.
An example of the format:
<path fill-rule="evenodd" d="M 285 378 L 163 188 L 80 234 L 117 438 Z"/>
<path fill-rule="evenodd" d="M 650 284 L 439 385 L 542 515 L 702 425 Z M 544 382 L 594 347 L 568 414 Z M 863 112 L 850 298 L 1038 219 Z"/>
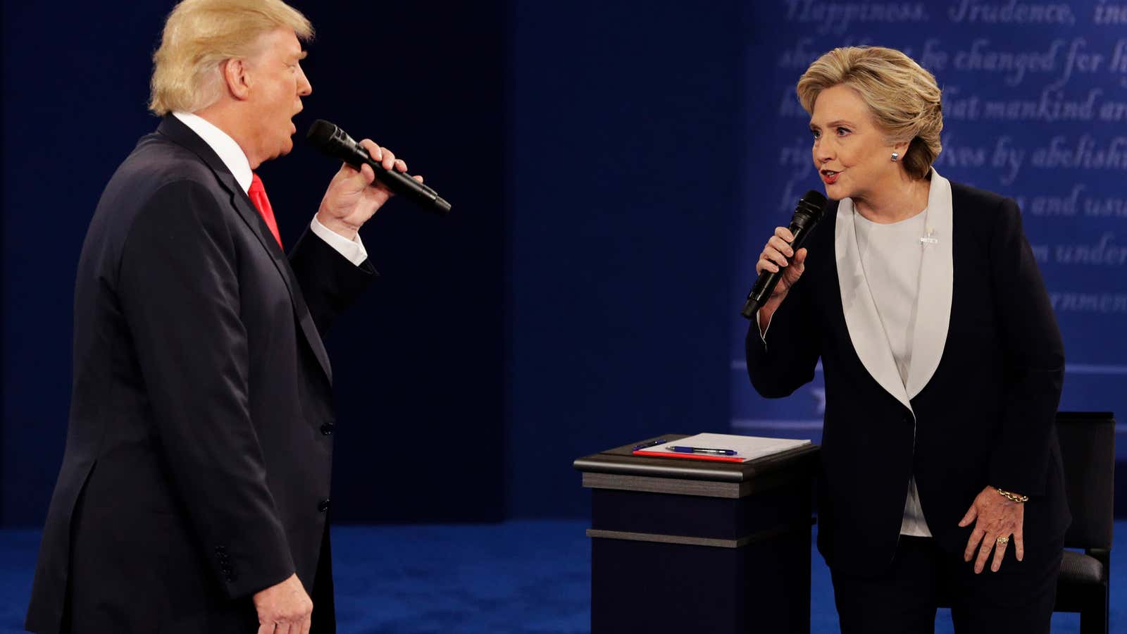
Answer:
<path fill-rule="evenodd" d="M 908 141 L 900 159 L 913 178 L 924 178 L 943 150 L 941 91 L 935 77 L 894 49 L 845 46 L 818 58 L 798 80 L 807 113 L 826 88 L 849 86 L 872 111 L 890 143 Z"/>

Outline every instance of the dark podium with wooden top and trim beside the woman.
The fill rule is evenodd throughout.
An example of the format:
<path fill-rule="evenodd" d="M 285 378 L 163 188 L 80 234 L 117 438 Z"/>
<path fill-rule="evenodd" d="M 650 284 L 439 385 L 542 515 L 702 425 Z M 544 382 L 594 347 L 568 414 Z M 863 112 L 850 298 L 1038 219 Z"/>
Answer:
<path fill-rule="evenodd" d="M 633 456 L 645 442 L 574 463 L 592 490 L 592 634 L 809 633 L 818 447 L 719 463 Z"/>

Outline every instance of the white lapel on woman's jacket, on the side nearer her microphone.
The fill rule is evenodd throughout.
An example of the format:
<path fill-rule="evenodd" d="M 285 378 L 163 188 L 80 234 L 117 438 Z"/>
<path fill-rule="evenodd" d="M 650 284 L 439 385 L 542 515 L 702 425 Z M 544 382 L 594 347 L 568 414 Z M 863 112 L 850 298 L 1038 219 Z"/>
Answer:
<path fill-rule="evenodd" d="M 877 314 L 877 303 L 872 299 L 872 292 L 861 267 L 861 255 L 858 252 L 857 232 L 853 228 L 853 201 L 850 199 L 842 199 L 837 204 L 834 255 L 837 261 L 842 310 L 845 312 L 845 326 L 853 342 L 853 350 L 857 351 L 861 364 L 880 387 L 912 410 L 912 402 L 896 369 L 896 360 L 893 359 L 888 337 L 885 336 L 885 328 Z"/>

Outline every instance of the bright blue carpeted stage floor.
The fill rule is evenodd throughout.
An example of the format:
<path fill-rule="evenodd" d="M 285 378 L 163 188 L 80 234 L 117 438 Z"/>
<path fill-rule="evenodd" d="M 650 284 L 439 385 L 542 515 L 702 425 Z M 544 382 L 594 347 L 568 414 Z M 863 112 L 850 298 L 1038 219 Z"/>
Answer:
<path fill-rule="evenodd" d="M 586 521 L 334 528 L 340 634 L 575 633 L 589 624 Z M 0 632 L 20 632 L 39 534 L 0 531 Z M 1111 632 L 1127 631 L 1127 521 L 1111 552 Z M 814 554 L 811 632 L 837 632 L 829 572 Z M 1053 632 L 1079 632 L 1056 615 Z M 940 610 L 935 632 L 951 632 Z"/>

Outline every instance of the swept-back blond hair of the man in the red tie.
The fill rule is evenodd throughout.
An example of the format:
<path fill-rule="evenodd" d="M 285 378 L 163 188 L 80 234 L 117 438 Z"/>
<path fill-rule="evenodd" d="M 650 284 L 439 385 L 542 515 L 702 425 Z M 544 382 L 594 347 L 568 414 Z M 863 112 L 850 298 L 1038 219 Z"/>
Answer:
<path fill-rule="evenodd" d="M 292 28 L 302 41 L 313 36 L 305 16 L 282 0 L 183 0 L 168 15 L 152 55 L 149 109 L 163 116 L 214 104 L 223 90 L 220 64 L 252 56 L 259 36 L 278 27 Z"/>

